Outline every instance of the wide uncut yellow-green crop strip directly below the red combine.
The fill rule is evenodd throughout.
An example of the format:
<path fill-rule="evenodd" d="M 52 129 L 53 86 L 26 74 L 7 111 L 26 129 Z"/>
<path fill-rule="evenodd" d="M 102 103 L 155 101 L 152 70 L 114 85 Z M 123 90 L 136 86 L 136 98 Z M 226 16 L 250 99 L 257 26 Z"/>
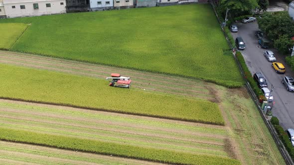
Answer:
<path fill-rule="evenodd" d="M 224 125 L 217 104 L 108 86 L 108 81 L 0 64 L 0 97 Z"/>

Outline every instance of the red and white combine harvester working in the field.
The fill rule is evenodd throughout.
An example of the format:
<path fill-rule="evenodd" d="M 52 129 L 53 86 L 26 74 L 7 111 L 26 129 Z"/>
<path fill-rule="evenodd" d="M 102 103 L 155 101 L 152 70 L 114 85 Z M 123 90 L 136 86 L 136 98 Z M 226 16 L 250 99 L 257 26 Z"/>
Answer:
<path fill-rule="evenodd" d="M 127 87 L 130 88 L 131 80 L 129 77 L 123 77 L 120 74 L 111 74 L 111 78 L 106 78 L 106 80 L 112 79 L 109 83 L 109 86 L 116 86 L 116 87 Z"/>

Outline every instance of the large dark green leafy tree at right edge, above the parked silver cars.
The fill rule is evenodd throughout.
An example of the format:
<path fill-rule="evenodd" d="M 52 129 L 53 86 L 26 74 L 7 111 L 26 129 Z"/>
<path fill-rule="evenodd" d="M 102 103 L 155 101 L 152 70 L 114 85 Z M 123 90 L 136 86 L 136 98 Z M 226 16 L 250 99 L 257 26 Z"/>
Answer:
<path fill-rule="evenodd" d="M 277 40 L 282 35 L 294 36 L 294 23 L 287 11 L 276 13 L 266 12 L 258 20 L 259 28 L 267 33 L 271 40 Z"/>

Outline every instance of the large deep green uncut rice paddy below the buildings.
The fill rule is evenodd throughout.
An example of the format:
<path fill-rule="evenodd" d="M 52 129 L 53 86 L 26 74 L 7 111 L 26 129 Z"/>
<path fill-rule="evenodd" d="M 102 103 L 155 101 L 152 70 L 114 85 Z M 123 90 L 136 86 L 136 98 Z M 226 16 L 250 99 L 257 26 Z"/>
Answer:
<path fill-rule="evenodd" d="M 243 84 L 209 4 L 0 20 L 10 22 L 31 23 L 13 51 Z"/>

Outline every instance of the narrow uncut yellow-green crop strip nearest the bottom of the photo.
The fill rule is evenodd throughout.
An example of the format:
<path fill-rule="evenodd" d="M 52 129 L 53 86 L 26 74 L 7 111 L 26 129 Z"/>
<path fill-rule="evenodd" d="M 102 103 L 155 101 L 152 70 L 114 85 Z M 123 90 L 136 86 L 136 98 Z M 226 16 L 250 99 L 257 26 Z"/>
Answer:
<path fill-rule="evenodd" d="M 104 155 L 182 165 L 240 165 L 233 159 L 201 156 L 188 153 L 158 150 L 115 143 L 99 142 L 56 135 L 33 133 L 0 128 L 0 139 L 13 142 L 37 144 L 60 149 L 83 151 Z"/>

